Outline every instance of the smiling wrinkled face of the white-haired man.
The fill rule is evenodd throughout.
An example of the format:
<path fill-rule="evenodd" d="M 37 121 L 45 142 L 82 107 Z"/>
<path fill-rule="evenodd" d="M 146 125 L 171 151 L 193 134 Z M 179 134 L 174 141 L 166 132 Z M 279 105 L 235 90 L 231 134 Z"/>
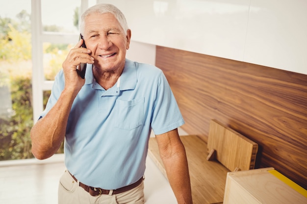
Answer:
<path fill-rule="evenodd" d="M 131 32 L 123 30 L 111 13 L 93 13 L 85 18 L 83 39 L 100 71 L 122 71 Z"/>

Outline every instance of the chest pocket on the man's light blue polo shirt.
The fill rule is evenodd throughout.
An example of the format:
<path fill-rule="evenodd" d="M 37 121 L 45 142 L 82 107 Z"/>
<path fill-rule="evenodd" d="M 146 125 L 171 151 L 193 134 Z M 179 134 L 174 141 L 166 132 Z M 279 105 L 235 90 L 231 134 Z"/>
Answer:
<path fill-rule="evenodd" d="M 115 127 L 125 130 L 132 130 L 143 125 L 144 120 L 144 98 L 130 101 L 116 101 Z"/>

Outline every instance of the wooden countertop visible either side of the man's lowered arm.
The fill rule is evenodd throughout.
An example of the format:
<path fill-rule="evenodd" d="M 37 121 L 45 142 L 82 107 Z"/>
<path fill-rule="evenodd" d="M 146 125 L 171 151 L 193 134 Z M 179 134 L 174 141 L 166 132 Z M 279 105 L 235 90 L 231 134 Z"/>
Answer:
<path fill-rule="evenodd" d="M 206 143 L 198 136 L 180 136 L 180 138 L 188 159 L 193 203 L 222 203 L 229 170 L 218 161 L 208 161 L 206 159 L 208 156 Z M 154 137 L 149 140 L 149 156 L 167 178 Z"/>

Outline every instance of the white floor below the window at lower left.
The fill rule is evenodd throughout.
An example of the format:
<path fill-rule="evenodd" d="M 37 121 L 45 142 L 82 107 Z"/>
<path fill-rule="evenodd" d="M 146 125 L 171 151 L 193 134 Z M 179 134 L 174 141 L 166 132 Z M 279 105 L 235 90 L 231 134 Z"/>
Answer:
<path fill-rule="evenodd" d="M 59 156 L 45 162 L 35 159 L 1 162 L 0 203 L 56 204 L 57 185 L 64 170 L 63 157 Z"/>

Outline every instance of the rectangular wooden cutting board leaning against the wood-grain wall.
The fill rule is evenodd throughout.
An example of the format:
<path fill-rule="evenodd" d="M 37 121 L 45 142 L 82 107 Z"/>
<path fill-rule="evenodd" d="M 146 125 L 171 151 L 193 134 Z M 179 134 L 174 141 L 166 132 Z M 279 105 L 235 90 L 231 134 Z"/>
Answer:
<path fill-rule="evenodd" d="M 210 122 L 207 150 L 216 150 L 216 159 L 230 171 L 249 170 L 255 167 L 258 145 L 213 119 Z"/>

